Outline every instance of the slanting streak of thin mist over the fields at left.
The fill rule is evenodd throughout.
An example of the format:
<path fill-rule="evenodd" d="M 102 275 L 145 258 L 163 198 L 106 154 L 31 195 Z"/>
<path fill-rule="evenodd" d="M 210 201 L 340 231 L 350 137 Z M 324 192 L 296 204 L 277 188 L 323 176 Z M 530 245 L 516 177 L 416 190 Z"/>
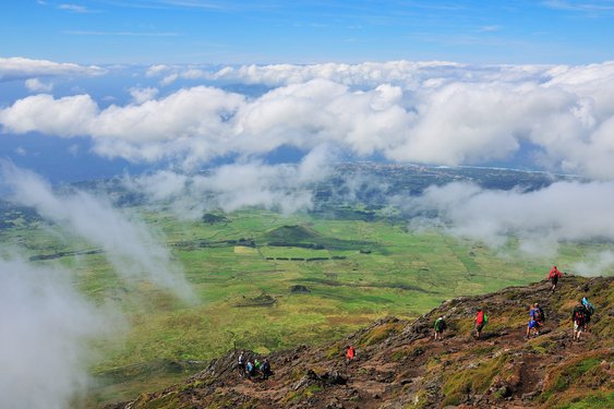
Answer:
<path fill-rule="evenodd" d="M 184 299 L 192 298 L 181 267 L 144 224 L 129 218 L 101 197 L 76 190 L 58 194 L 35 173 L 7 163 L 0 165 L 11 202 L 34 207 L 44 218 L 104 249 L 125 279 L 147 279 Z"/>

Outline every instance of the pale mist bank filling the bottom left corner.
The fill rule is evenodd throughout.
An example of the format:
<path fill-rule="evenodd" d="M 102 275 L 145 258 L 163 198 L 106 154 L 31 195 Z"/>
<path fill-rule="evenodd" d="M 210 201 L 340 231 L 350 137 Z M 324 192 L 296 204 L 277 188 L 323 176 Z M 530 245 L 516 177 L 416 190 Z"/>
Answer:
<path fill-rule="evenodd" d="M 65 272 L 0 258 L 0 407 L 72 407 L 87 387 L 85 342 L 103 327 Z"/>

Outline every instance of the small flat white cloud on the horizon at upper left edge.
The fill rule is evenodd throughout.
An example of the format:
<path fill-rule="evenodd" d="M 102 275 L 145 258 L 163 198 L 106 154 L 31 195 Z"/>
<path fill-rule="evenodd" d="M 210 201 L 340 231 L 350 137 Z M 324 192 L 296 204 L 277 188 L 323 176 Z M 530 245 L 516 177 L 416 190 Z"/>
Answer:
<path fill-rule="evenodd" d="M 0 58 L 0 81 L 62 75 L 103 75 L 107 70 L 96 65 L 77 65 L 65 62 L 32 60 L 22 57 Z"/>

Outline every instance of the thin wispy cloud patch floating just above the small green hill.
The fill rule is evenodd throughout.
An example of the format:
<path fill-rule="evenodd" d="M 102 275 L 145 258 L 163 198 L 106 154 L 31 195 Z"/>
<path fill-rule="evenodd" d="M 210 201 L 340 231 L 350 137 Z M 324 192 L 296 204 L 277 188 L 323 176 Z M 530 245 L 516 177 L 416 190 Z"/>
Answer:
<path fill-rule="evenodd" d="M 232 212 L 255 206 L 291 214 L 313 207 L 313 187 L 333 172 L 334 149 L 320 146 L 297 165 L 266 165 L 251 160 L 225 165 L 208 175 L 170 170 L 136 178 L 124 185 L 145 193 L 149 203 L 171 204 L 180 218 L 200 218 L 204 210 Z"/>

